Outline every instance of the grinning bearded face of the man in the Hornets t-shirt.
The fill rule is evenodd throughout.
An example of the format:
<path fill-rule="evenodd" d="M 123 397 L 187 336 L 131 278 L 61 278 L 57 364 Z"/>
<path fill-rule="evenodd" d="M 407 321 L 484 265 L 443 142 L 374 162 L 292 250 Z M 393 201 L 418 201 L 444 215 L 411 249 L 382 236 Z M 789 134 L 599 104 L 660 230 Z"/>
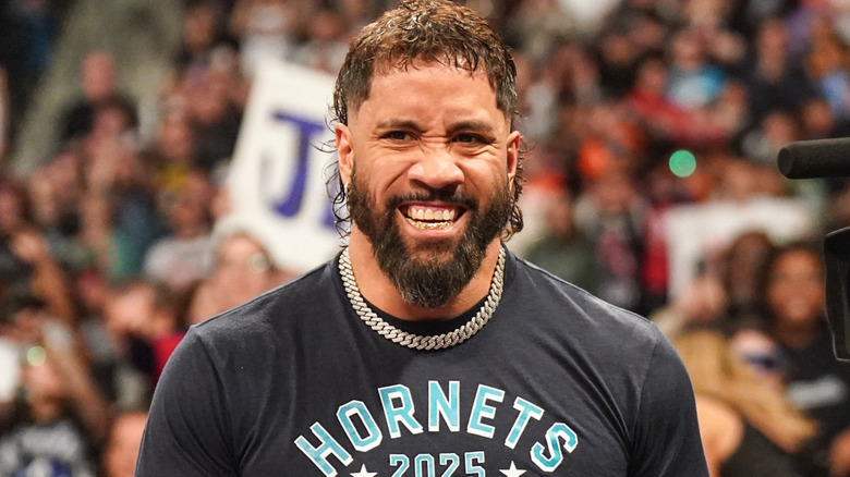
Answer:
<path fill-rule="evenodd" d="M 484 73 L 423 62 L 376 75 L 337 126 L 352 234 L 404 299 L 442 306 L 477 271 L 510 216 L 519 139 Z"/>

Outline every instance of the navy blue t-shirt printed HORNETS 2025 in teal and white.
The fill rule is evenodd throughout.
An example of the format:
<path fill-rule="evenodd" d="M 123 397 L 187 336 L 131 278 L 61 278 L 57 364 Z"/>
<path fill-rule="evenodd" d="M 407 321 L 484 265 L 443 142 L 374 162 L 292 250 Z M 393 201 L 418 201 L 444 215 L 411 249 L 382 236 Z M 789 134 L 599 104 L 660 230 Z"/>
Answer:
<path fill-rule="evenodd" d="M 707 476 L 687 371 L 646 319 L 509 254 L 490 321 L 414 351 L 357 317 L 337 264 L 192 328 L 138 476 Z M 439 334 L 477 309 L 382 317 Z"/>

